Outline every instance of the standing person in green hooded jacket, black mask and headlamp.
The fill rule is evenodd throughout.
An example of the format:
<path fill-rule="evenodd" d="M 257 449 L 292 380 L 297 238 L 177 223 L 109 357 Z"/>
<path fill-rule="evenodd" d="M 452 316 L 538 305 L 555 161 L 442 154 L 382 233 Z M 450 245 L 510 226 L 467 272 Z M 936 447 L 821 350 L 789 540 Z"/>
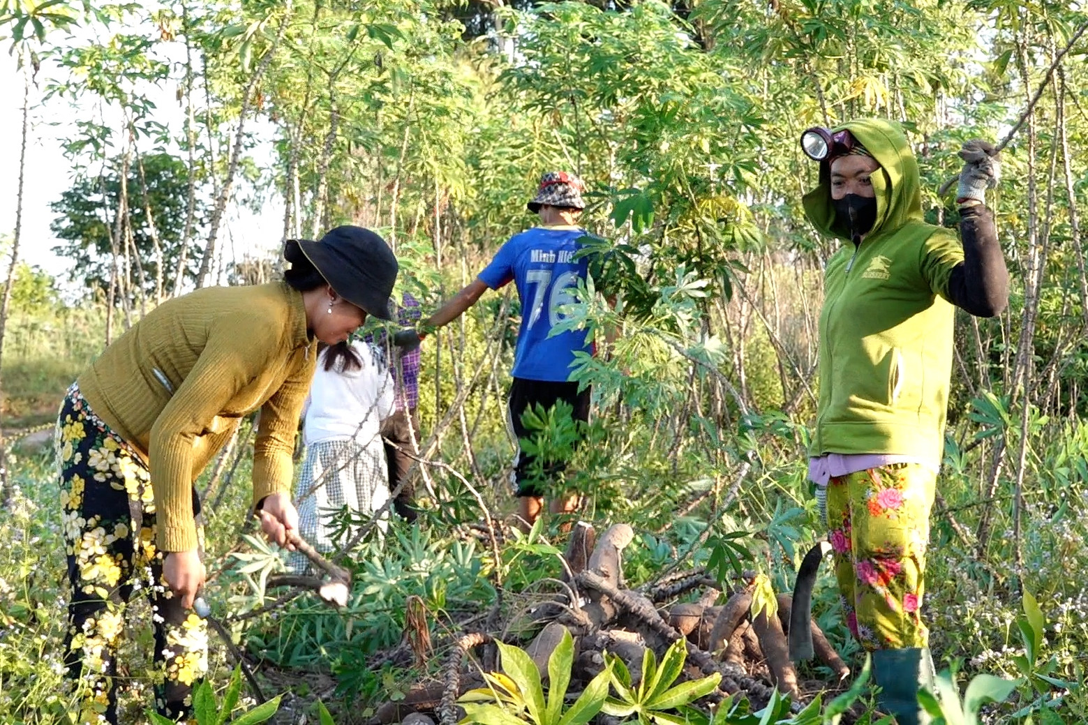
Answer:
<path fill-rule="evenodd" d="M 943 451 L 954 307 L 1001 312 L 1009 273 L 985 192 L 993 146 L 960 156 L 960 236 L 927 224 L 918 164 L 899 125 L 812 128 L 805 152 L 819 185 L 809 221 L 844 242 L 827 262 L 819 317 L 819 403 L 809 478 L 851 632 L 873 653 L 883 710 L 928 722 L 917 704 L 932 678 L 922 619 L 929 513 Z"/>

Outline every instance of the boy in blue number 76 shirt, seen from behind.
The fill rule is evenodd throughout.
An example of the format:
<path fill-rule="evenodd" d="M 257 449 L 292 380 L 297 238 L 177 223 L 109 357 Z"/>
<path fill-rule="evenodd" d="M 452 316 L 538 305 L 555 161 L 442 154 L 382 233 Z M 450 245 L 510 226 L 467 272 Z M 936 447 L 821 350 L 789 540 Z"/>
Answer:
<path fill-rule="evenodd" d="M 574 353 L 592 352 L 592 342 L 584 330 L 548 336 L 562 317 L 560 307 L 574 302 L 573 290 L 588 274 L 586 259 L 574 259 L 580 247 L 578 239 L 586 233 L 577 223 L 585 208 L 582 189 L 582 180 L 573 174 L 564 171 L 544 174 L 536 196 L 527 205 L 530 211 L 540 214 L 540 225 L 510 237 L 471 284 L 422 322 L 424 329 L 447 324 L 489 288 L 498 290 L 514 281 L 521 299 L 521 328 L 511 371 L 508 422 L 519 440 L 529 435 L 521 415 L 537 404 L 549 408 L 558 401 L 566 401 L 573 407 L 576 420 L 589 420 L 590 390 L 579 392 L 578 383 L 569 377 Z M 519 450 L 514 476 L 518 513 L 527 527 L 533 525 L 543 505 L 541 493 L 528 481 L 531 467 L 531 457 Z M 554 475 L 558 469 L 549 467 L 545 472 Z M 551 509 L 572 512 L 578 501 L 577 494 L 553 501 Z"/>

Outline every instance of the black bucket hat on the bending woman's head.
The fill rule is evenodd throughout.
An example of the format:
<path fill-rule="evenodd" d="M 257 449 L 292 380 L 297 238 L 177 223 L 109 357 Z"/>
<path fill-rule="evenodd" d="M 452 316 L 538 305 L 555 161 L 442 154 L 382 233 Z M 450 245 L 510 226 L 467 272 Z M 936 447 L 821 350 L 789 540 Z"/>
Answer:
<path fill-rule="evenodd" d="M 320 242 L 294 242 L 318 268 L 325 282 L 344 299 L 368 315 L 392 320 L 390 295 L 397 280 L 397 258 L 381 236 L 345 224 L 330 230 Z"/>

